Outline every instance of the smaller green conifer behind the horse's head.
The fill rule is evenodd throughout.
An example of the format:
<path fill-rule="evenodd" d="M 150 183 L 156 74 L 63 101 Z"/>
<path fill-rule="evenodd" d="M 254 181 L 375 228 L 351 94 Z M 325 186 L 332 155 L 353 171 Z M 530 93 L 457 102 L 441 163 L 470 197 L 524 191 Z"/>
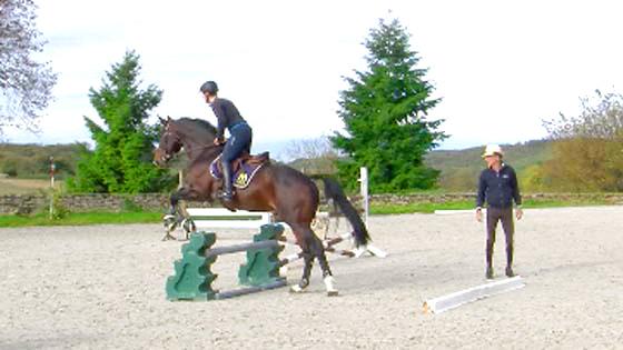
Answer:
<path fill-rule="evenodd" d="M 139 56 L 126 52 L 121 63 L 106 73 L 99 90 L 90 89 L 91 104 L 107 128 L 85 117 L 96 148 L 85 152 L 68 187 L 77 192 L 137 193 L 169 189 L 171 177 L 151 164 L 156 127 L 148 126 L 148 112 L 162 91 L 139 84 Z"/>

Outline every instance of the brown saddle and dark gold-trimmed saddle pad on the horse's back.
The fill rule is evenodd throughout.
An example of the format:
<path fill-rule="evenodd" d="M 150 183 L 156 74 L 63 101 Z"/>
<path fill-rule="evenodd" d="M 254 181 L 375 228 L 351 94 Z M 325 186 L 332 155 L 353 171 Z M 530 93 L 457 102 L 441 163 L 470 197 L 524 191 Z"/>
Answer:
<path fill-rule="evenodd" d="M 231 182 L 237 189 L 245 189 L 261 167 L 270 162 L 269 152 L 249 154 L 244 152 L 231 161 Z M 215 179 L 222 179 L 220 154 L 210 163 L 210 173 Z"/>

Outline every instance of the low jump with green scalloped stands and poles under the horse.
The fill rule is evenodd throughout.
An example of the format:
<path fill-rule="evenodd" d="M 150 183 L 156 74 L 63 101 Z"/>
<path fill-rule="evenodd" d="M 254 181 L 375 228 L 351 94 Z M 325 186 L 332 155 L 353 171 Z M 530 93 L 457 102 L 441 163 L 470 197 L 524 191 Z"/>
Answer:
<path fill-rule="evenodd" d="M 286 286 L 286 279 L 279 276 L 279 268 L 285 263 L 278 258 L 284 249 L 279 244 L 283 232 L 280 224 L 265 224 L 251 243 L 217 248 L 211 248 L 215 233 L 194 232 L 190 241 L 181 247 L 181 259 L 174 263 L 175 274 L 167 279 L 167 299 L 220 300 Z M 248 287 L 215 290 L 211 284 L 218 274 L 211 271 L 212 263 L 219 256 L 241 251 L 246 252 L 247 261 L 238 269 L 238 281 Z"/>

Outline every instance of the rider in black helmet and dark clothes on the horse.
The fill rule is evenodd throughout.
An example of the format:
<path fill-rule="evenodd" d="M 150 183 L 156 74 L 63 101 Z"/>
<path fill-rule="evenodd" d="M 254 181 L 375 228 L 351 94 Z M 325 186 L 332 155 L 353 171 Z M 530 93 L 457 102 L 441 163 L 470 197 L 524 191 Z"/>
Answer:
<path fill-rule="evenodd" d="M 234 103 L 227 99 L 219 98 L 218 86 L 214 81 L 206 81 L 199 89 L 206 98 L 206 103 L 210 104 L 216 118 L 218 119 L 217 134 L 214 144 L 225 143 L 220 162 L 222 164 L 224 191 L 220 198 L 224 201 L 231 201 L 231 161 L 240 156 L 243 151 L 250 152 L 253 141 L 253 130 L 247 121 L 240 116 Z M 225 129 L 229 130 L 229 139 L 225 142 Z"/>

